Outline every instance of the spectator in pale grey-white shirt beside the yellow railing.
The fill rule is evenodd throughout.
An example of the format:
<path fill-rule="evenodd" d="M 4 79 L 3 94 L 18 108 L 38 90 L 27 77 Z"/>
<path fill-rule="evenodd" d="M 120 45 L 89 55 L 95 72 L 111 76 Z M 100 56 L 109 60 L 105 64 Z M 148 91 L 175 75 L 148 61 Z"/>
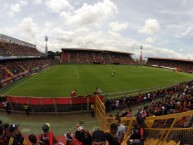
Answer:
<path fill-rule="evenodd" d="M 123 124 L 121 124 L 121 119 L 119 117 L 115 118 L 115 124 L 118 126 L 116 137 L 118 138 L 119 143 L 122 143 L 124 135 L 126 133 L 126 127 Z"/>

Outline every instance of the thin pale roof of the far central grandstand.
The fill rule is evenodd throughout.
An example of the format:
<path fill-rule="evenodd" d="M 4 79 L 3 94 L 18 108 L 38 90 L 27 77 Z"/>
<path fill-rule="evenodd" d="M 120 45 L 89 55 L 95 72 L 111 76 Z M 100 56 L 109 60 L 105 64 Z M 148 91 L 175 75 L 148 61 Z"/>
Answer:
<path fill-rule="evenodd" d="M 134 55 L 134 53 L 123 52 L 123 51 L 114 51 L 114 50 L 105 50 L 105 49 L 89 49 L 89 48 L 62 48 L 62 50 L 82 50 L 82 51 L 98 51 L 98 52 L 113 52 L 113 53 L 123 53 Z"/>

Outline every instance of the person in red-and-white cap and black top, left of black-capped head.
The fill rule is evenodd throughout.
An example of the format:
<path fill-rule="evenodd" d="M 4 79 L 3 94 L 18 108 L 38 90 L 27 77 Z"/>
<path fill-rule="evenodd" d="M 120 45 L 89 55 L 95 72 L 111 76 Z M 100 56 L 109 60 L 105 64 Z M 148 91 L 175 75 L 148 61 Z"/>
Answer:
<path fill-rule="evenodd" d="M 75 132 L 75 138 L 82 142 L 82 145 L 91 145 L 91 135 L 88 131 L 84 130 L 83 126 L 79 126 Z"/>

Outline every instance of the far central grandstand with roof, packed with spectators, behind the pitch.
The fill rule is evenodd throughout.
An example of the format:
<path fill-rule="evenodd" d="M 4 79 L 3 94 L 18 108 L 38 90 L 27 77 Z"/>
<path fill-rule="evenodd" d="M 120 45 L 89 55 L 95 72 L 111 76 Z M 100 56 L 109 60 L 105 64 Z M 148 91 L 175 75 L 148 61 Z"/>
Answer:
<path fill-rule="evenodd" d="M 62 48 L 61 62 L 88 64 L 132 64 L 133 53 L 86 48 Z"/>

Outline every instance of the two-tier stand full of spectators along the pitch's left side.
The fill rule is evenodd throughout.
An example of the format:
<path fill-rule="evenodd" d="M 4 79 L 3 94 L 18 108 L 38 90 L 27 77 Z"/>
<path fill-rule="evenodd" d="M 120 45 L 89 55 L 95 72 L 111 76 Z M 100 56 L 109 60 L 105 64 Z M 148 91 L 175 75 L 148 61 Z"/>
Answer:
<path fill-rule="evenodd" d="M 0 34 L 0 88 L 55 63 L 35 45 Z"/>

